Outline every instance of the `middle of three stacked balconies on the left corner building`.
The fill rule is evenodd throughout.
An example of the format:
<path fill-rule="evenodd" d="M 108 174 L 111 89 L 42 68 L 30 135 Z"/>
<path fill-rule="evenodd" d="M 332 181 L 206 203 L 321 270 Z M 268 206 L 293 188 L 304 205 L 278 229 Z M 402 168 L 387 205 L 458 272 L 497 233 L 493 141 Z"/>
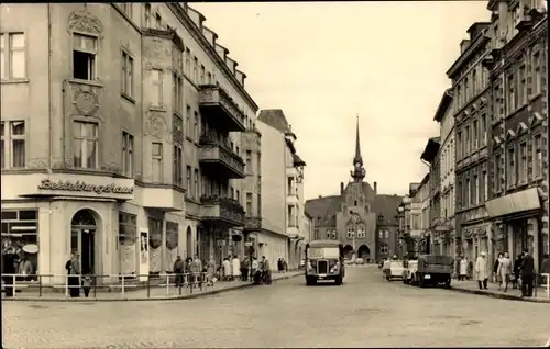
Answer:
<path fill-rule="evenodd" d="M 244 178 L 244 161 L 223 142 L 213 136 L 200 137 L 199 162 L 206 172 L 223 178 Z"/>

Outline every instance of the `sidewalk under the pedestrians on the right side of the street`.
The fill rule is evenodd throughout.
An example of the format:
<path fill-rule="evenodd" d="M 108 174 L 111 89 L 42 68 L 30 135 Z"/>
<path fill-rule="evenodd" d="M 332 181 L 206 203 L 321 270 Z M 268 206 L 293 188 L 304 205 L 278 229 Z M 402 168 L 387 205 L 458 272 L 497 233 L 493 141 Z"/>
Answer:
<path fill-rule="evenodd" d="M 521 291 L 512 289 L 512 285 L 508 288 L 508 292 L 498 291 L 498 284 L 496 283 L 488 283 L 487 286 L 488 290 L 480 290 L 480 288 L 477 286 L 477 281 L 475 280 L 458 281 L 457 279 L 453 279 L 450 290 L 471 294 L 483 294 L 494 299 L 550 303 L 550 299 L 547 297 L 544 288 L 539 286 L 536 291 L 534 290 L 532 297 L 521 297 Z"/>

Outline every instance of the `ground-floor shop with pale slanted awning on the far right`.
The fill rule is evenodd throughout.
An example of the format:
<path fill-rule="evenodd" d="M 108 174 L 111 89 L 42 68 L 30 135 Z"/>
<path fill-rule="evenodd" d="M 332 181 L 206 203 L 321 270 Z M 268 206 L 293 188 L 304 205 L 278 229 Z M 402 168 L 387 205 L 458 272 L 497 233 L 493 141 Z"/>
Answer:
<path fill-rule="evenodd" d="M 544 234 L 541 228 L 542 207 L 537 188 L 526 189 L 485 203 L 501 237 L 499 246 L 516 258 L 524 248 L 529 249 L 539 266 Z M 547 237 L 548 238 L 548 237 Z"/>

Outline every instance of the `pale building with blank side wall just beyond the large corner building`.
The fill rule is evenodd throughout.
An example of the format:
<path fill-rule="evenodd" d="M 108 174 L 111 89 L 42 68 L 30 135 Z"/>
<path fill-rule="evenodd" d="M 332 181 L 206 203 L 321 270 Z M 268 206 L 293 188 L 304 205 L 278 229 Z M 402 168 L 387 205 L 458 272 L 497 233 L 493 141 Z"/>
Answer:
<path fill-rule="evenodd" d="M 285 258 L 298 267 L 304 249 L 304 166 L 296 151 L 296 134 L 280 109 L 260 111 L 262 133 L 262 229 L 260 251 L 270 260 Z M 265 251 L 265 252 L 264 252 Z M 276 268 L 276 263 L 272 263 Z"/>

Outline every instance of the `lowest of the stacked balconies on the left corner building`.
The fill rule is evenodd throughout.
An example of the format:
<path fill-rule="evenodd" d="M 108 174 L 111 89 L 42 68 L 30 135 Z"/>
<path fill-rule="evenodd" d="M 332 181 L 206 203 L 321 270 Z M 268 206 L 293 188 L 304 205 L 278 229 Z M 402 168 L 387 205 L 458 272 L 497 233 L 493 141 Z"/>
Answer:
<path fill-rule="evenodd" d="M 244 209 L 239 201 L 229 198 L 200 198 L 200 219 L 220 227 L 244 225 Z"/>

